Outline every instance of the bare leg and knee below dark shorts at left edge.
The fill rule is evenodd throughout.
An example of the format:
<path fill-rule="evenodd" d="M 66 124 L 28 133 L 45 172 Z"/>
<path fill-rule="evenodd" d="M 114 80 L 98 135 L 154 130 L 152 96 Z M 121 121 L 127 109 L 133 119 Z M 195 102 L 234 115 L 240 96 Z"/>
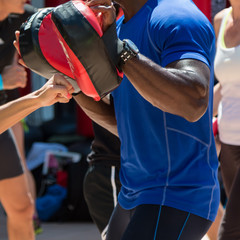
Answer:
<path fill-rule="evenodd" d="M 0 196 L 8 216 L 9 240 L 34 240 L 32 221 L 34 205 L 28 191 L 25 174 L 1 180 Z"/>

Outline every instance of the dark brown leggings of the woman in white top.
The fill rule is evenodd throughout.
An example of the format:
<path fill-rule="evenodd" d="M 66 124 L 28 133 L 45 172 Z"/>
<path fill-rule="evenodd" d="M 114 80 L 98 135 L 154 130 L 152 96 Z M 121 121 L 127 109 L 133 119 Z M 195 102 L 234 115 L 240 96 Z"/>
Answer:
<path fill-rule="evenodd" d="M 237 240 L 240 239 L 240 146 L 221 143 L 219 160 L 228 197 L 219 230 L 219 240 Z"/>

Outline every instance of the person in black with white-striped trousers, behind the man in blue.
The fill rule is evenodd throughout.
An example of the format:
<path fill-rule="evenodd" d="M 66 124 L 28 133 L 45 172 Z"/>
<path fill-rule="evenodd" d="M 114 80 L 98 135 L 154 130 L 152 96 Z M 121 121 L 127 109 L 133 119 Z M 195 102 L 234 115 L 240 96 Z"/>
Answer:
<path fill-rule="evenodd" d="M 93 122 L 94 140 L 88 155 L 89 169 L 84 179 L 84 197 L 89 213 L 104 240 L 108 222 L 121 188 L 120 140 Z"/>

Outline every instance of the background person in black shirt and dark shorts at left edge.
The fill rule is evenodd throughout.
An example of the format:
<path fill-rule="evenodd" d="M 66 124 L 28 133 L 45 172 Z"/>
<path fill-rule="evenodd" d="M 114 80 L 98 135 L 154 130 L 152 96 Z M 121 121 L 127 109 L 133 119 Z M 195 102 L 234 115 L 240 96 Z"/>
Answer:
<path fill-rule="evenodd" d="M 0 104 L 18 98 L 16 88 L 23 88 L 27 83 L 27 73 L 17 63 L 16 49 L 13 46 L 15 31 L 35 12 L 25 2 L 0 0 Z M 0 135 L 1 203 L 8 216 L 9 239 L 33 239 L 34 182 L 27 168 L 24 168 L 26 164 L 21 123 L 16 122 L 12 130 Z"/>

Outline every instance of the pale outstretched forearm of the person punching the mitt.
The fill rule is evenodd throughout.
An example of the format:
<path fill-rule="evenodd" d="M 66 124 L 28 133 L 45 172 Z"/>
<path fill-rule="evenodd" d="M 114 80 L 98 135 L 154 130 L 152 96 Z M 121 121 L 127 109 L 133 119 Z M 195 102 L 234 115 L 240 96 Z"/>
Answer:
<path fill-rule="evenodd" d="M 39 105 L 34 94 L 29 94 L 0 106 L 0 133 L 38 108 Z"/>

